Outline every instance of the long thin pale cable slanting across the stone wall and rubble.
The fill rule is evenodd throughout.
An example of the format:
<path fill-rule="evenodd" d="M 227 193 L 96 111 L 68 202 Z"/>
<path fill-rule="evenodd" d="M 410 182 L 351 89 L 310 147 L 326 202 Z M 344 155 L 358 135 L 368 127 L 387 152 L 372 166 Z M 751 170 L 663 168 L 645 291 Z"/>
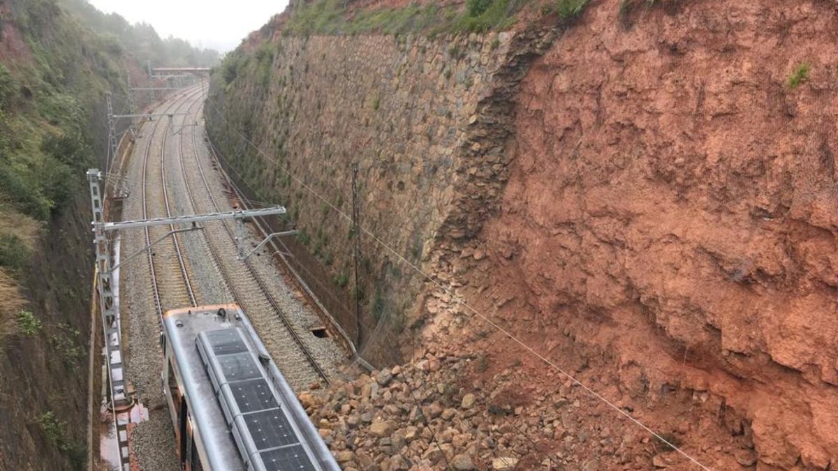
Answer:
<path fill-rule="evenodd" d="M 282 165 L 279 165 L 279 163 L 277 162 L 277 159 L 272 158 L 266 152 L 262 151 L 261 148 L 258 148 L 256 146 L 256 144 L 251 142 L 251 140 L 248 137 L 246 137 L 242 132 L 239 132 L 238 130 L 233 129 L 232 126 L 230 125 L 230 122 L 227 121 L 227 118 L 221 113 L 221 111 L 219 111 L 219 109 L 215 106 L 215 104 L 212 101 L 207 100 L 206 102 L 213 109 L 213 111 L 215 111 L 215 114 L 218 115 L 225 122 L 225 124 L 227 125 L 226 127 L 228 129 L 230 129 L 232 132 L 235 132 L 239 137 L 241 137 L 241 139 L 243 139 L 249 146 L 251 146 L 251 148 L 253 148 L 256 151 L 256 153 L 259 153 L 262 157 L 270 160 L 272 163 L 277 164 L 277 168 L 279 168 L 280 171 L 282 171 L 283 173 L 286 173 L 290 178 L 294 179 L 294 181 L 296 181 L 297 184 L 299 184 L 304 189 L 308 190 L 309 193 L 313 194 L 315 197 L 320 199 L 323 202 L 323 204 L 327 204 L 329 208 L 331 208 L 338 215 L 340 215 L 345 220 L 347 220 L 349 222 L 349 224 L 352 224 L 352 216 L 351 215 L 347 215 L 346 213 L 344 213 L 343 210 L 340 210 L 337 206 L 332 204 L 331 201 L 329 201 L 328 199 L 323 197 L 323 195 L 319 194 L 315 189 L 311 188 L 311 186 L 306 184 L 303 181 L 303 179 L 300 179 L 299 177 L 297 177 L 296 174 L 292 173 L 287 168 L 283 168 Z M 622 417 L 625 417 L 627 420 L 629 420 L 629 422 L 632 422 L 632 423 L 634 423 L 634 425 L 642 428 L 644 431 L 649 432 L 649 434 L 651 434 L 653 437 L 660 440 L 661 443 L 665 443 L 671 449 L 675 450 L 676 452 L 680 453 L 680 455 L 684 456 L 685 458 L 689 459 L 692 463 L 696 464 L 699 468 L 704 469 L 706 471 L 711 471 L 710 467 L 708 467 L 704 463 L 701 463 L 700 461 L 698 461 L 698 459 L 694 458 L 691 454 L 686 453 L 683 449 L 676 446 L 674 443 L 671 443 L 670 440 L 667 440 L 665 437 L 661 436 L 658 432 L 654 432 L 654 430 L 652 430 L 649 426 L 645 425 L 643 422 L 640 422 L 639 419 L 634 418 L 631 414 L 629 414 L 629 412 L 623 411 L 623 409 L 621 409 L 619 406 L 614 404 L 612 401 L 609 401 L 608 398 L 602 396 L 597 391 L 594 391 L 591 387 L 582 383 L 582 381 L 577 380 L 577 378 L 575 376 L 566 372 L 566 370 L 561 368 L 559 365 L 556 365 L 556 363 L 554 361 L 550 360 L 545 355 L 541 355 L 535 349 L 530 347 L 530 345 L 525 344 L 524 341 L 515 337 L 515 335 L 510 333 L 510 331 L 508 331 L 507 329 L 504 329 L 501 326 L 499 326 L 497 323 L 494 323 L 490 318 L 485 316 L 483 313 L 480 313 L 476 308 L 473 308 L 473 306 L 471 304 L 466 302 L 463 298 L 460 298 L 452 290 L 450 290 L 447 287 L 442 286 L 441 282 L 437 282 L 437 280 L 435 280 L 431 275 L 427 274 L 426 272 L 423 272 L 422 268 L 416 267 L 416 265 L 414 263 L 407 260 L 404 256 L 401 256 L 401 254 L 398 251 L 396 251 L 391 246 L 387 245 L 385 243 L 385 241 L 382 241 L 377 235 L 372 233 L 370 230 L 367 230 L 365 227 L 360 226 L 360 225 L 358 227 L 366 235 L 369 235 L 379 246 L 384 248 L 385 251 L 388 251 L 393 256 L 396 256 L 397 259 L 399 259 L 400 261 L 405 263 L 408 267 L 411 267 L 411 269 L 413 271 L 418 273 L 421 277 L 425 278 L 428 282 L 431 282 L 432 285 L 434 285 L 438 289 L 442 290 L 443 292 L 447 293 L 447 295 L 449 295 L 451 297 L 451 299 L 453 300 L 454 303 L 458 303 L 458 304 L 462 305 L 463 308 L 468 309 L 468 311 L 470 311 L 471 313 L 476 315 L 478 318 L 481 318 L 485 323 L 488 323 L 489 326 L 491 326 L 493 329 L 497 330 L 501 334 L 504 334 L 505 337 L 509 338 L 515 344 L 518 344 L 521 348 L 525 349 L 527 352 L 530 353 L 530 355 L 535 356 L 535 358 L 541 360 L 544 364 L 551 367 L 553 370 L 556 370 L 559 374 L 565 376 L 568 380 L 571 380 L 572 383 L 576 384 L 577 386 L 582 387 L 582 389 L 584 391 L 587 391 L 588 394 L 597 398 L 597 400 L 602 401 L 604 404 L 606 404 L 608 407 L 612 408 L 614 411 L 617 411 L 619 415 L 621 415 Z"/>

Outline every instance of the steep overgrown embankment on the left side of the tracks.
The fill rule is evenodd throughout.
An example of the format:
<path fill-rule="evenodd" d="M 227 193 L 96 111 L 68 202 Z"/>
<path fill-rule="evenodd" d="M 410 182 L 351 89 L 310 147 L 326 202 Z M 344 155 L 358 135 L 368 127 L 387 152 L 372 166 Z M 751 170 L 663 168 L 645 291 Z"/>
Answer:
<path fill-rule="evenodd" d="M 121 111 L 125 70 L 134 83 L 142 77 L 118 37 L 94 34 L 64 5 L 0 1 L 0 469 L 85 463 L 93 269 L 85 170 L 104 168 L 106 91 Z"/>

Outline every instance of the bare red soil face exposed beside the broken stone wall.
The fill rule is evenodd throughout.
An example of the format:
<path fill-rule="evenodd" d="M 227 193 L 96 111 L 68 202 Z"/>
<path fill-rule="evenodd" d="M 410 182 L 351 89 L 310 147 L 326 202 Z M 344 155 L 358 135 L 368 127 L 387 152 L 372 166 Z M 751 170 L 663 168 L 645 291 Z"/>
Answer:
<path fill-rule="evenodd" d="M 469 298 L 653 425 L 695 391 L 765 469 L 835 466 L 838 12 L 619 4 L 522 84 Z"/>

